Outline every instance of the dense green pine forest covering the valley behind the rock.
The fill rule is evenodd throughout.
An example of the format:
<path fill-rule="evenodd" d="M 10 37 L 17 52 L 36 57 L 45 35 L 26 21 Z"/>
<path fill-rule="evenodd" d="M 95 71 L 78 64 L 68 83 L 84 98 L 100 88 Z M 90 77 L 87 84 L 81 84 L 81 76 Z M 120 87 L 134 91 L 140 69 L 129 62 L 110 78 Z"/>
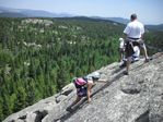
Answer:
<path fill-rule="evenodd" d="M 0 19 L 0 121 L 118 61 L 124 27 L 88 17 Z M 147 30 L 144 38 L 162 48 L 161 35 Z"/>

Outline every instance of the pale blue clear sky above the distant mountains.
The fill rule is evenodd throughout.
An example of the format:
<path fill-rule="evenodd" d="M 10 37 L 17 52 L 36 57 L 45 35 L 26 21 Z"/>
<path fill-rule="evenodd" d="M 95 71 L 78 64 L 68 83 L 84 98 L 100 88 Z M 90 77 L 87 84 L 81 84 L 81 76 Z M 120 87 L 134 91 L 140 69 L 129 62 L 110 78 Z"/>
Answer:
<path fill-rule="evenodd" d="M 163 0 L 0 0 L 0 7 L 124 19 L 136 13 L 144 24 L 163 24 Z"/>

